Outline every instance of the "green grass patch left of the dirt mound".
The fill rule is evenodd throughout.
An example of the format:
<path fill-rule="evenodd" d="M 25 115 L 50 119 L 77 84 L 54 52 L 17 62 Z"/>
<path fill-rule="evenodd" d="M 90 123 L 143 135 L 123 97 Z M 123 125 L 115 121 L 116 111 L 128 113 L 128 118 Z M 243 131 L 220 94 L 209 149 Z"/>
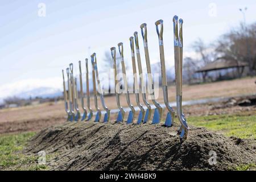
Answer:
<path fill-rule="evenodd" d="M 22 134 L 8 134 L 0 136 L 0 170 L 44 170 L 44 165 L 37 163 L 36 155 L 24 155 L 23 150 L 28 139 L 35 135 L 34 132 Z"/>

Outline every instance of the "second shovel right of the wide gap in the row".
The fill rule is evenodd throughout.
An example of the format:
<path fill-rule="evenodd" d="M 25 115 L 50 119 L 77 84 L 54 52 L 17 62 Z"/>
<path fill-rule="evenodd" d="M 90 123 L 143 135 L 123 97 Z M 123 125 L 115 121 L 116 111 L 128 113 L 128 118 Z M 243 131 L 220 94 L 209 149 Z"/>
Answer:
<path fill-rule="evenodd" d="M 123 82 L 124 82 L 124 87 L 125 87 L 125 95 L 126 95 L 126 101 L 128 106 L 130 107 L 129 115 L 127 118 L 127 124 L 133 123 L 134 119 L 134 114 L 135 114 L 135 109 L 133 105 L 131 105 L 130 101 L 130 94 L 128 90 L 128 82 L 127 82 L 127 77 L 126 77 L 126 71 L 125 71 L 125 61 L 123 59 L 123 43 L 118 43 L 118 49 L 121 57 L 121 65 L 122 65 L 122 72 L 123 72 Z"/>

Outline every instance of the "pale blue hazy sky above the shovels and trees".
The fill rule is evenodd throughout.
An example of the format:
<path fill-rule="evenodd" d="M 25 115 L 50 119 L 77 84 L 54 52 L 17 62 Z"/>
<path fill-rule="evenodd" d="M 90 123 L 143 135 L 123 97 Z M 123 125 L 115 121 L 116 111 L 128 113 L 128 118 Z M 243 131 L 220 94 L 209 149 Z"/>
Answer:
<path fill-rule="evenodd" d="M 42 6 L 43 5 L 43 6 Z M 45 7 L 45 9 L 44 9 Z M 184 56 L 193 56 L 191 44 L 201 38 L 214 42 L 243 20 L 255 22 L 256 1 L 53 1 L 1 0 L 0 2 L 0 98 L 39 86 L 61 89 L 61 69 L 97 53 L 98 69 L 110 47 L 123 42 L 125 62 L 131 65 L 129 38 L 147 23 L 151 63 L 159 62 L 155 21 L 164 21 L 167 67 L 174 65 L 172 17 L 183 18 Z M 45 10 L 45 11 L 44 11 Z M 45 15 L 45 16 L 44 16 Z M 142 63 L 144 64 L 142 53 Z"/>

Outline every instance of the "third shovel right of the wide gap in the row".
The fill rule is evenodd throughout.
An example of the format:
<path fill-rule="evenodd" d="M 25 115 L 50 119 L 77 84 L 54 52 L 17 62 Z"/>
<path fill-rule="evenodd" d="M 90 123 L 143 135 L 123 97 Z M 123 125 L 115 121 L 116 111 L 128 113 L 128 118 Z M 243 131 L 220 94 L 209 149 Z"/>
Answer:
<path fill-rule="evenodd" d="M 141 105 L 141 103 L 139 102 L 139 84 L 138 84 L 137 71 L 136 71 L 133 36 L 130 37 L 130 47 L 131 47 L 131 61 L 133 63 L 133 89 L 135 91 L 137 105 L 140 109 L 137 124 L 140 124 L 143 121 L 143 118 L 145 115 L 145 110 L 144 110 L 143 106 Z"/>

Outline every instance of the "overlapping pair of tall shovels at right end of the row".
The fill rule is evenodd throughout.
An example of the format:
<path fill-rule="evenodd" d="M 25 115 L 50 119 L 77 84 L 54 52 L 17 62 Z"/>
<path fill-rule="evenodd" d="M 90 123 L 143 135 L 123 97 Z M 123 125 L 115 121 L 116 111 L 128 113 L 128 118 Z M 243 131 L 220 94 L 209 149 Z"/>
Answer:
<path fill-rule="evenodd" d="M 181 126 L 179 129 L 180 140 L 187 139 L 189 127 L 182 113 L 182 59 L 183 59 L 183 20 L 179 19 L 179 35 L 178 35 L 178 17 L 175 15 L 174 22 L 174 59 L 175 59 L 175 82 L 176 82 L 176 103 L 177 103 L 177 118 Z"/>

